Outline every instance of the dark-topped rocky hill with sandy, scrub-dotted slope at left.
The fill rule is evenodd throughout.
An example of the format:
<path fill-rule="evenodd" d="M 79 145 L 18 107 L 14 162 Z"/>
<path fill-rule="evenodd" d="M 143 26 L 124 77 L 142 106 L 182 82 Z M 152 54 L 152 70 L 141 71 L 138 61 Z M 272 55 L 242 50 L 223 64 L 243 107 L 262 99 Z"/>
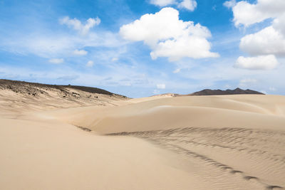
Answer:
<path fill-rule="evenodd" d="M 50 110 L 59 107 L 115 105 L 128 97 L 100 88 L 77 85 L 46 85 L 16 80 L 0 80 L 0 109 Z M 14 109 L 15 110 L 15 109 Z"/>

